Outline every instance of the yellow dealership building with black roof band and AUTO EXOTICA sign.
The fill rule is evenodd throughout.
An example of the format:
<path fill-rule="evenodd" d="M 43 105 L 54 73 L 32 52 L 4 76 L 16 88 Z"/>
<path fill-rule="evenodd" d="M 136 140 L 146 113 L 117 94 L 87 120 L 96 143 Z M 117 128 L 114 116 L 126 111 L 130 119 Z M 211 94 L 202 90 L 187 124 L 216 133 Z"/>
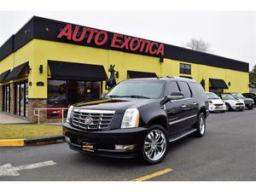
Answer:
<path fill-rule="evenodd" d="M 181 76 L 207 91 L 249 90 L 247 62 L 34 16 L 0 48 L 0 111 L 36 122 L 35 108 L 98 99 L 110 65 L 117 82 Z M 48 109 L 41 119 L 61 115 Z"/>

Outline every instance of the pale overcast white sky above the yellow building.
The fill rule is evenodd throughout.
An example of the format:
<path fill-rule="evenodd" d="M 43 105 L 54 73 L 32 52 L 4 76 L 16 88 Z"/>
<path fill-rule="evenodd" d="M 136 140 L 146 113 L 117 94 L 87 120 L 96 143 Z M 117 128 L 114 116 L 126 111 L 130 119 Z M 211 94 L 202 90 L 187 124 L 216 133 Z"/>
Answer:
<path fill-rule="evenodd" d="M 214 55 L 256 64 L 256 11 L 0 10 L 0 45 L 33 15 L 177 46 L 202 38 Z"/>

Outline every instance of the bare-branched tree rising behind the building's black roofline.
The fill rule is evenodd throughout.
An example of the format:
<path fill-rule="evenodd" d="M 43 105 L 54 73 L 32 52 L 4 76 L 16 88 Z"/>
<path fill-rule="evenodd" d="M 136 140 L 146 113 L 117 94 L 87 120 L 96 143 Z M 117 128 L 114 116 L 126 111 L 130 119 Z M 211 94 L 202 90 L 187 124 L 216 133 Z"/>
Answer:
<path fill-rule="evenodd" d="M 211 44 L 203 41 L 201 38 L 191 38 L 187 44 L 185 44 L 186 48 L 197 50 L 204 53 L 212 52 L 210 50 Z"/>

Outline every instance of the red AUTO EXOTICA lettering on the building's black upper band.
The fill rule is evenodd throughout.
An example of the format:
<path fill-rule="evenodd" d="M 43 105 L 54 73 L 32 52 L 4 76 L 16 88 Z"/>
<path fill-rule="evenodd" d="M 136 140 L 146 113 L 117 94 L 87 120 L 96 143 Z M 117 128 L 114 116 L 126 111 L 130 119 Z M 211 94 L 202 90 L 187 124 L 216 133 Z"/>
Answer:
<path fill-rule="evenodd" d="M 94 44 L 103 46 L 108 44 L 109 33 L 84 26 L 73 26 L 67 24 L 57 38 L 66 37 L 67 40 L 74 42 L 85 41 L 87 44 Z M 126 49 L 130 51 L 139 51 L 141 53 L 150 55 L 164 55 L 164 44 L 144 40 L 142 38 L 133 38 L 130 36 L 114 33 L 111 38 L 110 47 L 115 49 Z"/>

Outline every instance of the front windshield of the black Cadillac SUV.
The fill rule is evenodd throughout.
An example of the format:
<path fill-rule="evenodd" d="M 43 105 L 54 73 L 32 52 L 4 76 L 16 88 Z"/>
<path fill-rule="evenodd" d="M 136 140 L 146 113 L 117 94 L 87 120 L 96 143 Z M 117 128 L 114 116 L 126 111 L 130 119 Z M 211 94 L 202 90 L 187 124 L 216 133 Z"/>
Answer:
<path fill-rule="evenodd" d="M 156 99 L 162 96 L 164 84 L 160 80 L 124 81 L 113 87 L 105 97 Z"/>

